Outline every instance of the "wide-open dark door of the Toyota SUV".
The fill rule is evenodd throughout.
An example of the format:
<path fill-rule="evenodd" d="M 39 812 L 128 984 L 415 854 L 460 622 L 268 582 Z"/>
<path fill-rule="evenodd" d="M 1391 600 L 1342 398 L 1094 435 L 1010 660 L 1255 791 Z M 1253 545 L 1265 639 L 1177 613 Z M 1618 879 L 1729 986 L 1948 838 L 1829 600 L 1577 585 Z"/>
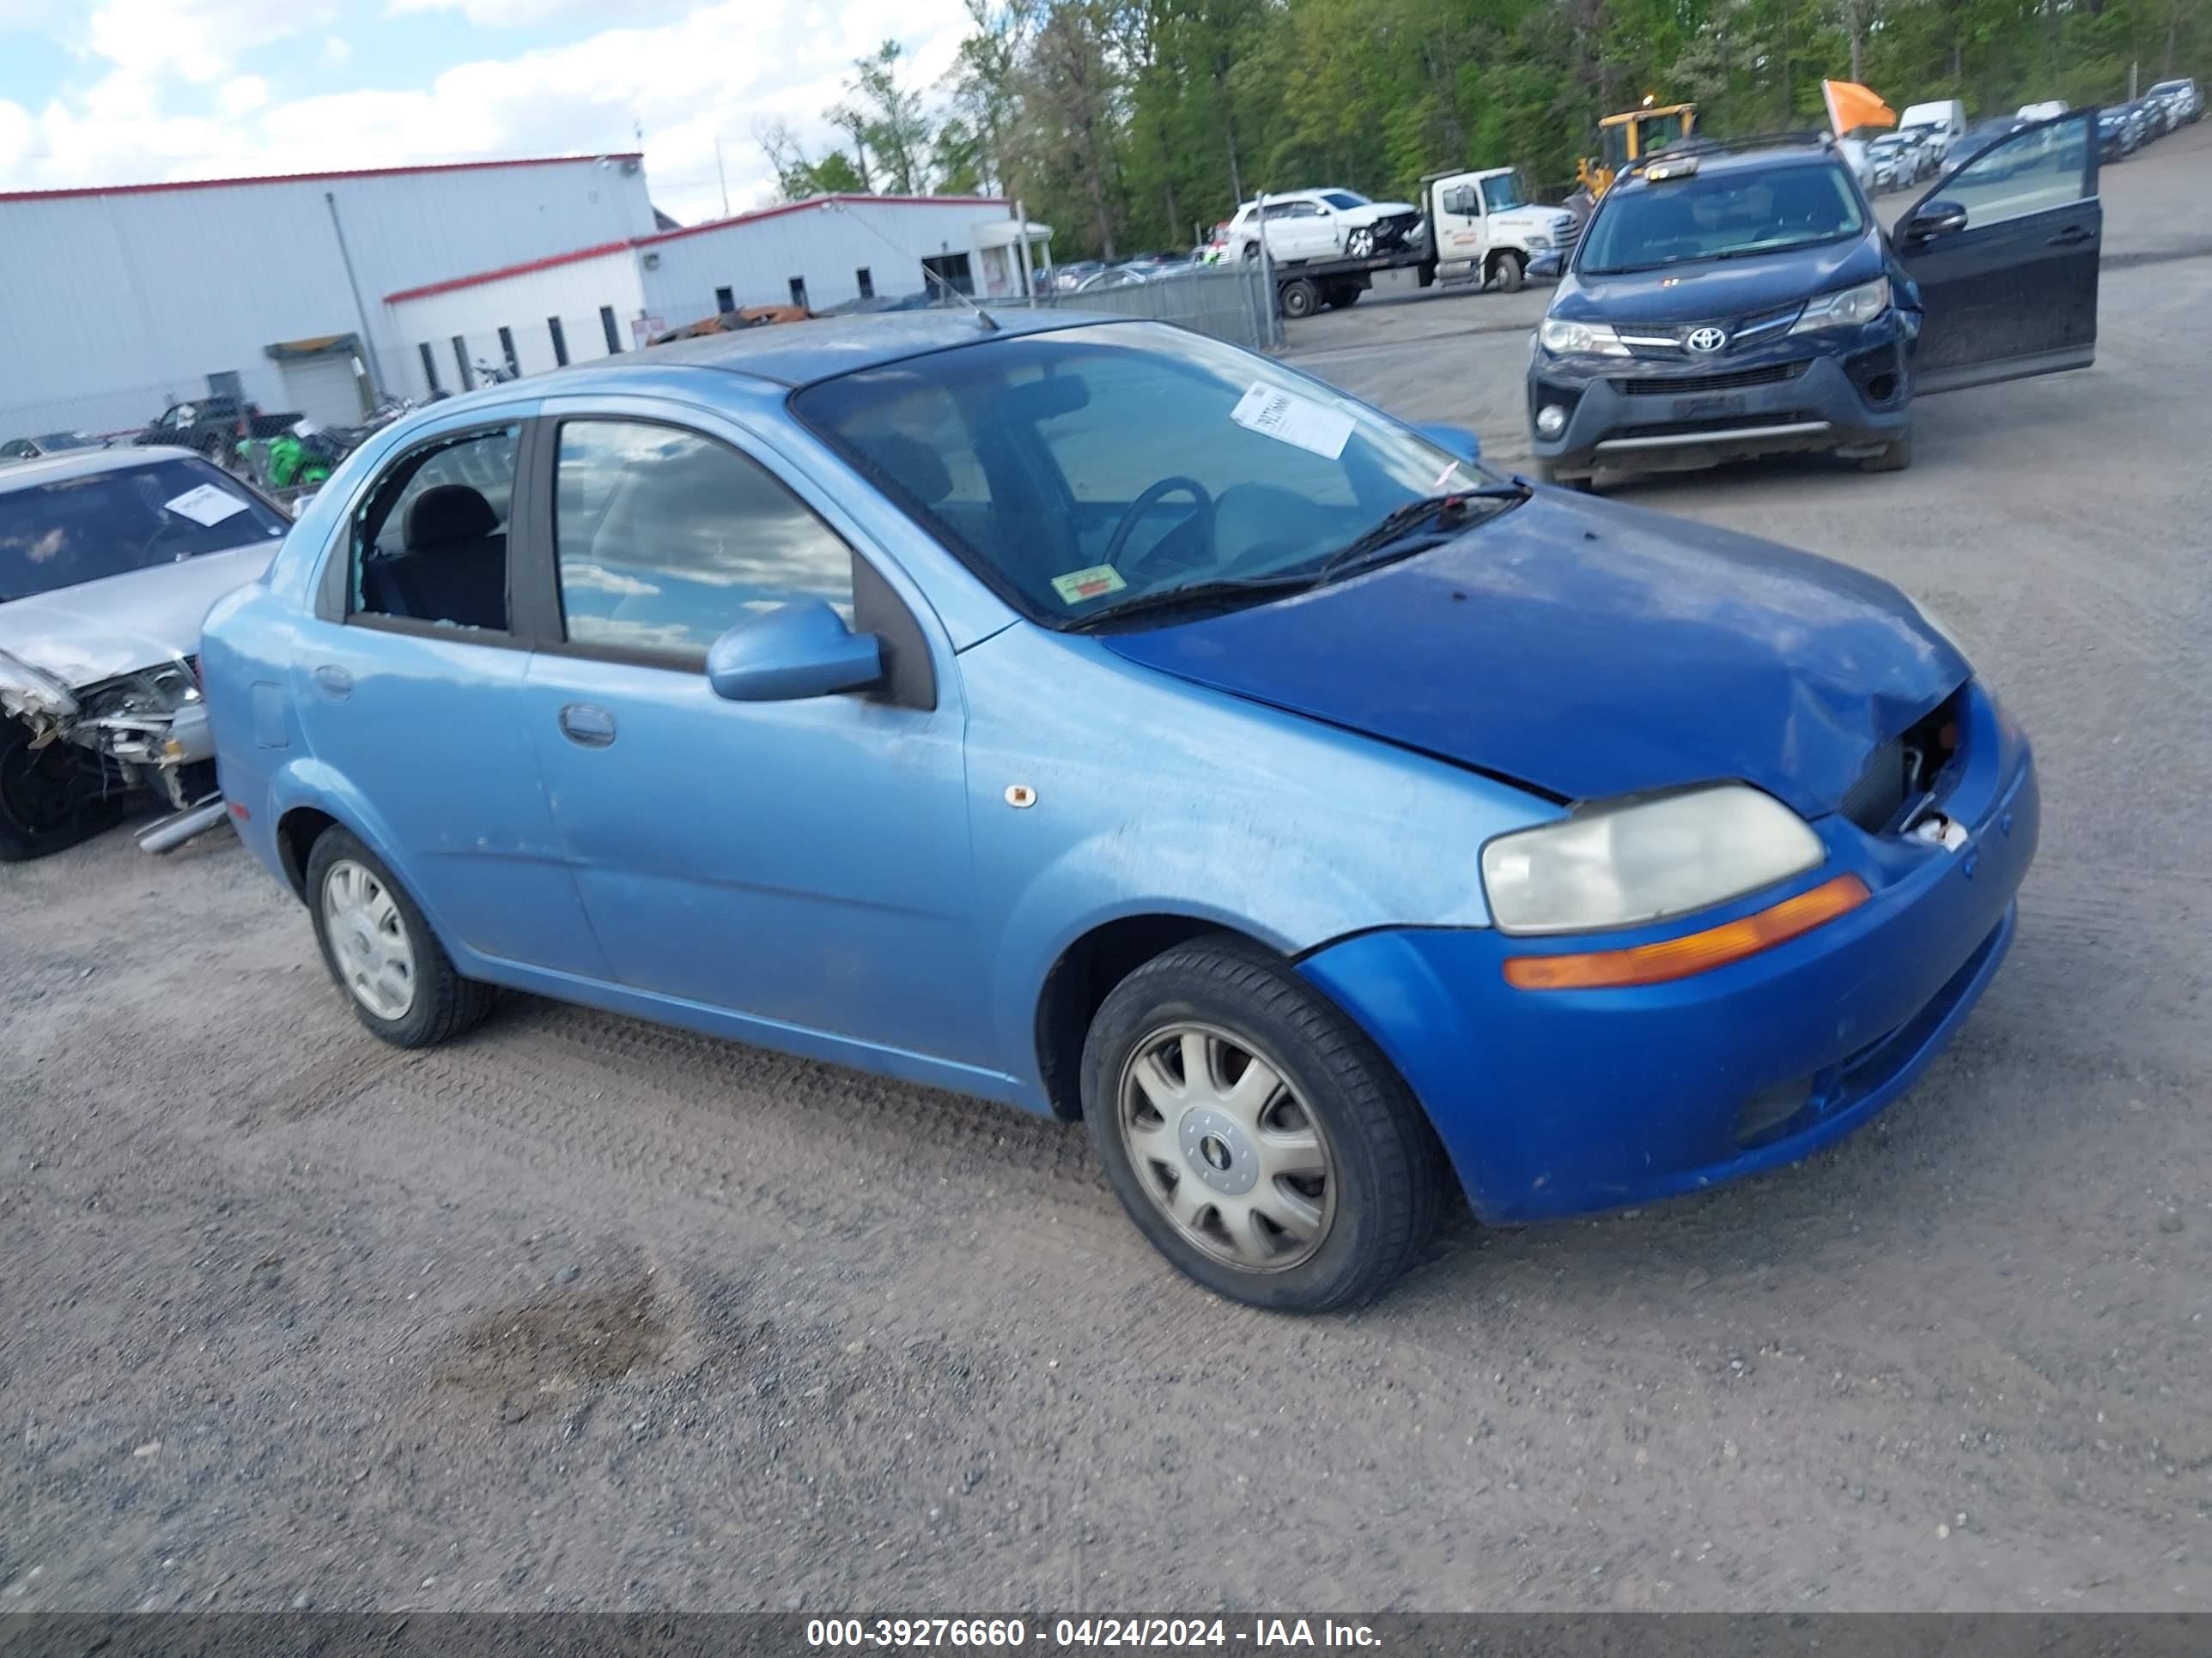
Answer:
<path fill-rule="evenodd" d="M 2097 360 L 2097 111 L 2022 128 L 1936 183 L 1898 221 L 1920 287 L 1918 391 Z"/>

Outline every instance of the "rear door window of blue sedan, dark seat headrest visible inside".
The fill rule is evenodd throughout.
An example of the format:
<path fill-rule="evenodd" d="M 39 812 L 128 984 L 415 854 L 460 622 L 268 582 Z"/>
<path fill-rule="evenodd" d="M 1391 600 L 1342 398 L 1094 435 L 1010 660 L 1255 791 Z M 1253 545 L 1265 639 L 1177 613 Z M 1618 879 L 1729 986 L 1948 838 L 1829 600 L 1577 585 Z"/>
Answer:
<path fill-rule="evenodd" d="M 520 427 L 400 455 L 354 526 L 354 615 L 507 632 L 507 513 Z"/>

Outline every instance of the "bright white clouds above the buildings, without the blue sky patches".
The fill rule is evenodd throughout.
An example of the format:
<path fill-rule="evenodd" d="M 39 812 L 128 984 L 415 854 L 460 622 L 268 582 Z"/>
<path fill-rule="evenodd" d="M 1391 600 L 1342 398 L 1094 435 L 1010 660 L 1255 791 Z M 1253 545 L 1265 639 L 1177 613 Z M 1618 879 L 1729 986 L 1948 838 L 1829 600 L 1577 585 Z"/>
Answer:
<path fill-rule="evenodd" d="M 102 0 L 86 51 L 106 62 L 106 77 L 44 111 L 11 115 L 0 104 L 0 188 L 281 172 L 303 155 L 316 166 L 591 155 L 637 148 L 644 126 L 655 201 L 697 221 L 721 210 L 717 137 L 730 206 L 761 206 L 774 175 L 752 139 L 759 122 L 787 122 L 818 155 L 838 141 L 821 113 L 843 97 L 854 57 L 896 38 L 907 82 L 933 91 L 967 27 L 960 0 L 845 0 L 832 13 L 816 0 L 641 4 L 648 22 L 573 44 L 451 64 L 418 84 L 283 97 L 334 80 L 296 44 L 292 66 L 268 69 L 274 84 L 254 99 L 248 84 L 263 77 L 234 73 L 239 53 L 321 29 L 336 18 L 332 0 Z M 480 24 L 584 13 L 580 0 L 394 0 L 394 11 L 429 7 L 458 7 Z M 604 7 L 593 0 L 588 11 Z M 407 31 L 409 20 L 367 24 L 349 11 L 347 27 L 358 40 L 365 27 Z M 343 64 L 345 42 L 323 35 L 321 57 Z M 179 80 L 217 82 L 217 113 L 173 113 L 206 97 Z"/>

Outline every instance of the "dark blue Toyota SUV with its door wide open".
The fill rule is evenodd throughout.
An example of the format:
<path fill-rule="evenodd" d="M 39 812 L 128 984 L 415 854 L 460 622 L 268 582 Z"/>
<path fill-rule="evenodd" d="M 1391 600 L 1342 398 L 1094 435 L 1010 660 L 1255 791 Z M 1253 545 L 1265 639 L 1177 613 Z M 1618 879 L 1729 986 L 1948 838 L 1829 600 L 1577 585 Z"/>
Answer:
<path fill-rule="evenodd" d="M 1535 471 L 1911 464 L 1916 393 L 2097 356 L 2097 111 L 1984 146 L 1887 230 L 1825 137 L 1690 141 L 1599 201 L 1528 349 Z"/>

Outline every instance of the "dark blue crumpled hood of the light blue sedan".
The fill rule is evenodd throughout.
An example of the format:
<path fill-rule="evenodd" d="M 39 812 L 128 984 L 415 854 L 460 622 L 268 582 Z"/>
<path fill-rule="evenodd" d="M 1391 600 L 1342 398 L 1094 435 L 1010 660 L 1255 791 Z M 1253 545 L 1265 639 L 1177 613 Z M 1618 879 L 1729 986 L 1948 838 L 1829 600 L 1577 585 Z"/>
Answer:
<path fill-rule="evenodd" d="M 1352 581 L 1099 641 L 1562 800 L 1741 778 L 1807 818 L 1971 672 L 1871 575 L 1548 493 Z"/>

